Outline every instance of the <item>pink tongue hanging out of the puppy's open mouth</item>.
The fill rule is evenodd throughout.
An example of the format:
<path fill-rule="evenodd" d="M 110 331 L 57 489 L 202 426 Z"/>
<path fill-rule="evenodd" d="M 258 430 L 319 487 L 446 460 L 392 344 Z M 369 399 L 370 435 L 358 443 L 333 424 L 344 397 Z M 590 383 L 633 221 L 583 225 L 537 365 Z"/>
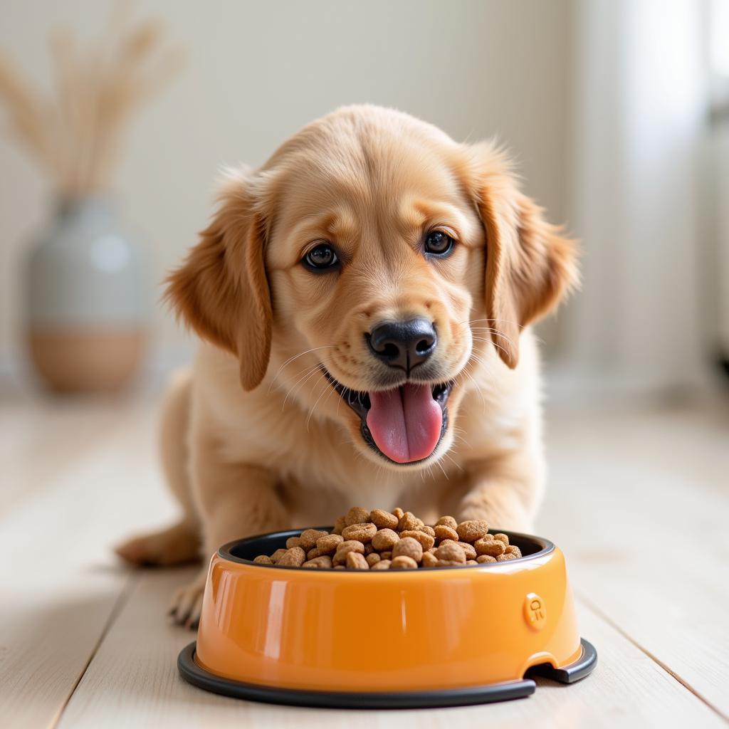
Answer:
<path fill-rule="evenodd" d="M 434 451 L 443 412 L 429 385 L 405 383 L 385 392 L 370 392 L 370 402 L 367 427 L 391 461 L 420 461 Z"/>

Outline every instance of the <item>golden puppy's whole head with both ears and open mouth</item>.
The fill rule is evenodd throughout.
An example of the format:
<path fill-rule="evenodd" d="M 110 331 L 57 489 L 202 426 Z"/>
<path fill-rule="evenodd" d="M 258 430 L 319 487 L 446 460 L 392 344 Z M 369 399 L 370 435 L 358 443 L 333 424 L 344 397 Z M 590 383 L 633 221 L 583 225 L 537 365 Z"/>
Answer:
<path fill-rule="evenodd" d="M 414 467 L 450 447 L 469 369 L 516 367 L 522 328 L 575 277 L 504 155 L 359 106 L 232 174 L 168 295 L 238 357 L 243 389 L 266 380 Z"/>

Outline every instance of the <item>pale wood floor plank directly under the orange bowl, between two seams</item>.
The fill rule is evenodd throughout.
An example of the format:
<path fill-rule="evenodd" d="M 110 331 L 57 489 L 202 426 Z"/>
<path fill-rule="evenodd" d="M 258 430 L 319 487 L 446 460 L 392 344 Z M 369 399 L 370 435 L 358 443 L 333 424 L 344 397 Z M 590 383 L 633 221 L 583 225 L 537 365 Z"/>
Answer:
<path fill-rule="evenodd" d="M 519 701 L 405 712 L 297 709 L 224 698 L 179 678 L 176 655 L 194 637 L 168 625 L 168 596 L 192 572 L 145 572 L 63 713 L 60 729 L 499 729 L 687 725 L 724 722 L 676 679 L 580 606 L 582 631 L 599 647 L 593 675 L 572 686 L 540 681 Z M 371 660 L 378 660 L 374 654 Z"/>

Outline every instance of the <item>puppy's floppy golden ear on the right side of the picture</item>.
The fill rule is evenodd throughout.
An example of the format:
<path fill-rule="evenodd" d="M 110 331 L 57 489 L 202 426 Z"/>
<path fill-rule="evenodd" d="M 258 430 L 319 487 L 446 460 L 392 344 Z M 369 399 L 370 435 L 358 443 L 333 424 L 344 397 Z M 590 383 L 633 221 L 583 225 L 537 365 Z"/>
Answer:
<path fill-rule="evenodd" d="M 477 148 L 475 200 L 486 229 L 486 316 L 501 359 L 519 361 L 522 327 L 551 311 L 577 284 L 574 241 L 545 222 L 501 152 Z"/>

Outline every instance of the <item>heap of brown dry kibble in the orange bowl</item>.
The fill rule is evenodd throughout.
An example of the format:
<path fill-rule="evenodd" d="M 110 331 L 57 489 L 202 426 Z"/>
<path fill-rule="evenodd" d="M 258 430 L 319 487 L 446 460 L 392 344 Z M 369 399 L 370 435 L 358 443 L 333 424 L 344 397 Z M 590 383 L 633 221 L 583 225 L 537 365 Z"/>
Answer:
<path fill-rule="evenodd" d="M 521 557 L 506 534 L 489 534 L 480 519 L 457 522 L 442 516 L 433 526 L 409 511 L 351 508 L 335 522 L 332 534 L 305 529 L 286 539 L 286 549 L 259 555 L 257 564 L 307 569 L 418 569 Z"/>

